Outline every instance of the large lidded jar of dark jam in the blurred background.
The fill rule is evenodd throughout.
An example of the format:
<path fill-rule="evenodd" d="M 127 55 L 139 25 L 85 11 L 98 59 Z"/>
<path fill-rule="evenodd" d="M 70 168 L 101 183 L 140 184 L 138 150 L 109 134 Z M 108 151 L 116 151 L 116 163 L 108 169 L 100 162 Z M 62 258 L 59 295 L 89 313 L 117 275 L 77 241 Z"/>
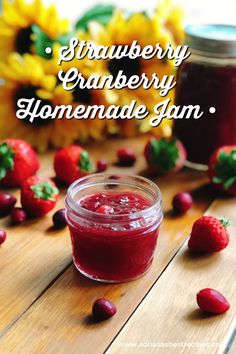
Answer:
<path fill-rule="evenodd" d="M 236 26 L 186 28 L 191 55 L 178 69 L 176 105 L 200 105 L 199 119 L 177 119 L 174 133 L 193 167 L 204 167 L 213 151 L 236 144 Z"/>

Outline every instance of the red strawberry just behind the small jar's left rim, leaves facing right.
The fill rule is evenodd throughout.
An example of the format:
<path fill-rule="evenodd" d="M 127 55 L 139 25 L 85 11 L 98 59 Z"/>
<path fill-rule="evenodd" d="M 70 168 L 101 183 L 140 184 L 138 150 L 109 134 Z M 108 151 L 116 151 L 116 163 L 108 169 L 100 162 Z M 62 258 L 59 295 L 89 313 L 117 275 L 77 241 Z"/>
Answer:
<path fill-rule="evenodd" d="M 54 158 L 54 170 L 59 180 L 67 185 L 91 172 L 89 154 L 81 146 L 71 145 L 59 150 Z"/>

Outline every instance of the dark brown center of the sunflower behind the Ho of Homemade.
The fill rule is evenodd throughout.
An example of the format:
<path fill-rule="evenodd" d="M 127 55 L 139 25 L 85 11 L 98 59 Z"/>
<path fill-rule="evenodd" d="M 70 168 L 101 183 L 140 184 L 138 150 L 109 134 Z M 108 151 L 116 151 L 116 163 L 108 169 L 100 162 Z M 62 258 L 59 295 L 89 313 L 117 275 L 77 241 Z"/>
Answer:
<path fill-rule="evenodd" d="M 25 86 L 21 86 L 15 93 L 15 105 L 16 105 L 16 109 L 18 109 L 17 107 L 17 101 L 21 98 L 24 99 L 32 99 L 35 98 L 35 101 L 32 105 L 32 110 L 35 107 L 36 101 L 37 100 L 41 100 L 40 105 L 38 107 L 38 110 L 40 111 L 45 105 L 49 105 L 52 107 L 52 104 L 49 100 L 45 100 L 45 99 L 41 99 L 37 94 L 38 87 L 35 86 L 31 86 L 31 85 L 25 85 Z M 30 115 L 28 115 L 25 119 L 22 120 L 23 123 L 25 124 L 33 124 L 35 126 L 45 126 L 45 125 L 49 125 L 51 123 L 50 119 L 41 119 L 40 117 L 36 117 L 33 121 L 33 123 L 30 123 Z"/>

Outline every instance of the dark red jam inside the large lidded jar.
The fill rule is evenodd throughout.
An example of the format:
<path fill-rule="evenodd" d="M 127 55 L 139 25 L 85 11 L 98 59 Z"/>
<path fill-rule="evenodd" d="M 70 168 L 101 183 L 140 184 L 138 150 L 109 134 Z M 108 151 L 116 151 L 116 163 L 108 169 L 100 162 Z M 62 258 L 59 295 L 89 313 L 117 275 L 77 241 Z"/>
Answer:
<path fill-rule="evenodd" d="M 236 144 L 236 66 L 185 62 L 179 68 L 177 105 L 200 105 L 204 115 L 178 119 L 175 134 L 184 143 L 188 160 L 206 164 L 222 145 Z M 209 108 L 215 107 L 214 114 Z"/>

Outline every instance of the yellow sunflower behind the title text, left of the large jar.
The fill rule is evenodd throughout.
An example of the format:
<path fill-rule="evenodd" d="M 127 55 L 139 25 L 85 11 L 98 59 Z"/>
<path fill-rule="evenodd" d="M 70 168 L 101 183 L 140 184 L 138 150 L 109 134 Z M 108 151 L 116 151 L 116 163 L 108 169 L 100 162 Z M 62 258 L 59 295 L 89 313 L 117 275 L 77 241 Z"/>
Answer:
<path fill-rule="evenodd" d="M 164 27 L 164 26 L 162 26 Z M 162 28 L 161 31 L 157 31 L 156 20 L 148 17 L 144 13 L 134 13 L 130 17 L 126 17 L 123 12 L 117 10 L 114 12 L 111 20 L 107 25 L 102 25 L 97 22 L 92 22 L 88 26 L 88 33 L 79 33 L 78 36 L 87 41 L 92 41 L 94 45 L 130 45 L 133 41 L 138 41 L 141 47 L 152 45 L 157 43 L 162 48 L 165 48 L 168 43 L 173 43 L 173 37 L 168 30 Z M 156 58 L 152 60 L 144 60 L 142 58 L 130 59 L 111 59 L 104 61 L 105 69 L 104 74 L 112 74 L 117 76 L 119 70 L 123 70 L 123 73 L 129 78 L 132 75 L 141 75 L 145 73 L 147 77 L 151 78 L 153 73 L 156 73 L 161 79 L 163 75 L 171 75 L 174 72 L 173 64 L 169 60 L 158 61 Z M 154 106 L 163 100 L 154 88 L 145 90 L 140 87 L 137 90 L 122 89 L 116 92 L 118 95 L 118 101 L 120 105 L 128 104 L 132 100 L 137 100 L 140 104 L 145 104 L 150 112 L 150 116 L 153 114 Z M 170 92 L 168 97 L 173 99 L 173 92 Z M 144 121 L 133 120 L 126 125 L 127 133 L 128 129 L 133 131 L 138 124 L 139 129 L 146 132 L 150 129 L 148 124 L 149 118 Z M 124 124 L 123 122 L 121 124 Z M 128 127 L 128 128 L 127 128 Z M 131 128 L 132 127 L 132 128 Z M 155 128 L 155 132 L 160 135 L 169 136 L 171 134 L 171 121 L 164 120 L 162 124 Z"/>

